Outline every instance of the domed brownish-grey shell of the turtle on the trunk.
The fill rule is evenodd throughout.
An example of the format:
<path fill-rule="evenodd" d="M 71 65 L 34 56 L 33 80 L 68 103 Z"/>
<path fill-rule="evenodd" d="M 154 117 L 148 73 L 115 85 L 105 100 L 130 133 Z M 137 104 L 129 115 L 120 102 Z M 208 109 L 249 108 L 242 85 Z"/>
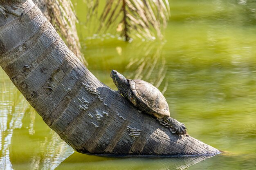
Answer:
<path fill-rule="evenodd" d="M 164 95 L 152 84 L 141 79 L 128 79 L 132 93 L 137 99 L 136 106 L 157 118 L 170 116 L 169 106 Z"/>

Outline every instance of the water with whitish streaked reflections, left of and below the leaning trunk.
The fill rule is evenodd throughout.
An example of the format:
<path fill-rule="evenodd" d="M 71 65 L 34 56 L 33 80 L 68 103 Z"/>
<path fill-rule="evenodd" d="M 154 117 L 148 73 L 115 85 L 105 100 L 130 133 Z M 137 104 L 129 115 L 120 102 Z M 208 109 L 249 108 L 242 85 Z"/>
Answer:
<path fill-rule="evenodd" d="M 0 170 L 54 169 L 73 151 L 9 80 L 0 84 Z"/>

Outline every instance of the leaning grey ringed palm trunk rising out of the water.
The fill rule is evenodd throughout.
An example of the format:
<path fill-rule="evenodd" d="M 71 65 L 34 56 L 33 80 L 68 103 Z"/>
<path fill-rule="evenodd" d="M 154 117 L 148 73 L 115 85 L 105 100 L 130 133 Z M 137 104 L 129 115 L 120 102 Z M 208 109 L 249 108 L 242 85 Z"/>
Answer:
<path fill-rule="evenodd" d="M 22 14 L 9 13 L 6 18 L 0 13 L 0 65 L 45 123 L 77 152 L 113 156 L 220 153 L 191 136 L 172 134 L 101 83 L 31 0 L 22 2 L 22 7 L 6 2 L 0 0 L 6 9 L 9 5 Z"/>

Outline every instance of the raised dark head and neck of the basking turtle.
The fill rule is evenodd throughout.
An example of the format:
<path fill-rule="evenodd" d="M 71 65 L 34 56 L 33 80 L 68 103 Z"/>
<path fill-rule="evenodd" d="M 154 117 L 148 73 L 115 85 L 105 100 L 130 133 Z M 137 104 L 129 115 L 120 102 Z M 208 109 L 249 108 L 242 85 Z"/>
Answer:
<path fill-rule="evenodd" d="M 112 70 L 110 77 L 113 79 L 113 82 L 115 83 L 119 91 L 126 92 L 130 89 L 130 84 L 127 81 L 126 77 L 124 77 L 117 71 Z"/>

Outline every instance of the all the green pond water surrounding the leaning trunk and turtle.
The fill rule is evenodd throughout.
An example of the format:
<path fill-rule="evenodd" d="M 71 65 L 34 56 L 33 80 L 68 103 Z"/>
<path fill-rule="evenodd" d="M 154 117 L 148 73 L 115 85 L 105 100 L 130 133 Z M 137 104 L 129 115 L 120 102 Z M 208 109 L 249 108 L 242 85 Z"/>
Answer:
<path fill-rule="evenodd" d="M 0 70 L 0 169 L 255 170 L 256 2 L 169 2 L 165 40 L 132 43 L 112 35 L 93 36 L 82 25 L 83 2 L 77 2 L 88 68 L 113 89 L 112 69 L 159 86 L 172 116 L 186 124 L 189 134 L 225 154 L 198 163 L 79 154 L 46 126 Z"/>

